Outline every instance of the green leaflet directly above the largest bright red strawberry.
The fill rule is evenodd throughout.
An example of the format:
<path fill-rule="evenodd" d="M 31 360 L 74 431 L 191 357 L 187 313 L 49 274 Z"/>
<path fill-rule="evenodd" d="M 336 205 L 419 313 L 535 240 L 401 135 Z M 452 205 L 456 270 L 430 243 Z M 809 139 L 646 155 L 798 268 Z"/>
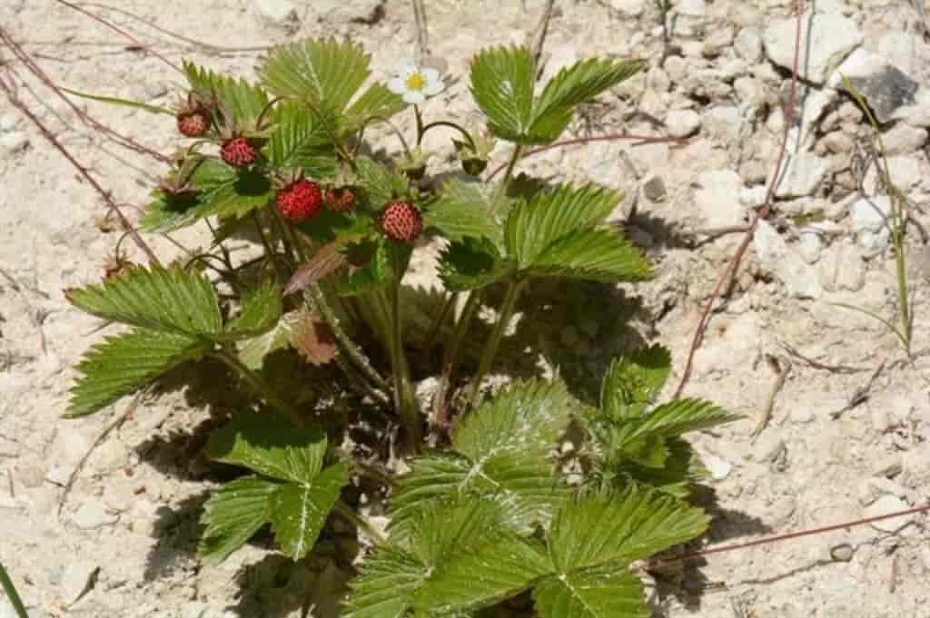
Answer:
<path fill-rule="evenodd" d="M 307 106 L 297 102 L 282 101 L 275 106 L 274 129 L 265 149 L 274 167 L 299 168 L 311 178 L 328 178 L 336 173 L 336 156 L 326 126 Z"/>

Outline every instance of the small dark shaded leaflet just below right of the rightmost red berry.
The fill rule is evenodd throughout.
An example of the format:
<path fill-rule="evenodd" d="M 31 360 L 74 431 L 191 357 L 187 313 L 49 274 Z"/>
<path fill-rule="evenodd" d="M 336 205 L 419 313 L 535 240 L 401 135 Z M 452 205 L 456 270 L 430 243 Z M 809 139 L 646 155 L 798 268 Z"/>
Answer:
<path fill-rule="evenodd" d="M 500 256 L 489 240 L 465 238 L 449 244 L 441 256 L 439 276 L 450 292 L 476 290 L 514 274 L 516 264 Z"/>

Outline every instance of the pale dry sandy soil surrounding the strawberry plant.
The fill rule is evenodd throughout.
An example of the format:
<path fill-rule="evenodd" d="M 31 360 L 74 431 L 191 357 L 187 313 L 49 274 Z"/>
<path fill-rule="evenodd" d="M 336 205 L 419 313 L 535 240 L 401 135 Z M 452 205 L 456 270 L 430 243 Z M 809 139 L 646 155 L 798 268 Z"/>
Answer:
<path fill-rule="evenodd" d="M 377 2 L 295 2 L 299 21 L 289 25 L 268 22 L 259 15 L 260 3 L 246 0 L 111 4 L 219 46 L 254 48 L 307 35 L 351 35 L 374 54 L 374 70 L 383 76 L 410 54 L 415 39 L 412 11 L 399 0 L 389 0 L 371 23 L 363 20 Z M 613 3 L 626 7 L 626 13 L 609 2 L 556 4 L 545 46 L 550 67 L 603 54 L 658 60 L 661 33 L 650 2 Z M 720 32 L 764 29 L 787 16 L 790 3 L 678 4 L 684 25 L 673 30 L 672 41 L 684 47 L 684 55 L 692 54 L 690 44 L 697 42 L 697 58 L 706 56 L 700 59 L 704 70 L 725 72 L 727 63 L 737 59 L 733 36 L 729 42 L 724 36 L 716 51 L 705 53 L 699 45 L 717 40 Z M 2 5 L 0 25 L 60 85 L 157 104 L 172 102 L 180 91 L 181 75 L 165 62 L 73 9 L 53 0 L 5 0 Z M 471 113 L 468 57 L 481 46 L 524 42 L 541 3 L 528 1 L 525 9 L 515 1 L 430 0 L 427 5 L 432 51 L 450 61 L 450 73 L 458 78 L 430 102 L 427 113 L 439 114 L 444 107 L 452 114 Z M 696 5 L 703 7 L 703 17 L 688 14 Z M 857 22 L 866 47 L 881 46 L 889 35 L 910 37 L 915 47 L 923 46 L 908 2 L 834 0 L 830 5 Z M 108 15 L 172 62 L 188 57 L 248 75 L 259 55 L 192 46 L 125 14 L 86 7 Z M 703 25 L 689 31 L 694 24 L 685 22 L 695 19 Z M 0 49 L 0 59 L 10 61 L 7 49 Z M 737 71 L 752 79 L 744 85 L 758 85 L 761 100 L 776 102 L 786 73 L 761 55 L 744 64 Z M 20 63 L 12 61 L 7 68 L 16 76 L 20 98 L 117 202 L 127 204 L 128 215 L 139 217 L 135 205 L 144 204 L 160 165 L 83 125 Z M 730 177 L 707 173 L 738 175 L 737 191 L 744 184 L 759 186 L 774 167 L 780 127 L 777 113 L 757 122 L 758 106 L 747 103 L 747 89 L 734 91 L 732 79 L 721 78 L 726 87 L 718 91 L 709 77 L 704 90 L 696 90 L 685 83 L 693 74 L 680 78 L 666 68 L 655 66 L 604 99 L 607 104 L 591 108 L 587 122 L 573 131 L 578 136 L 620 130 L 661 135 L 646 115 L 632 112 L 663 121 L 671 120 L 671 111 L 689 107 L 704 121 L 687 146 L 670 150 L 667 145 L 595 143 L 538 156 L 526 169 L 543 176 L 567 172 L 571 178 L 591 178 L 631 196 L 649 178 L 662 179 L 668 197 L 652 201 L 641 191 L 631 226 L 634 237 L 650 245 L 658 277 L 631 294 L 642 296 L 640 332 L 672 349 L 677 380 L 699 309 L 741 235 L 695 249 L 669 242 L 671 231 L 686 236 L 687 230 L 748 220 L 751 210 L 738 204 L 733 191 L 713 193 Z M 82 100 L 76 104 L 157 151 L 173 146 L 170 118 Z M 723 108 L 737 111 L 736 123 L 726 120 L 731 116 L 721 113 Z M 62 289 L 99 280 L 119 234 L 101 231 L 106 207 L 99 195 L 6 100 L 0 100 L 0 116 L 0 138 L 19 136 L 6 138 L 0 150 L 0 474 L 5 477 L 0 479 L 0 561 L 20 583 L 31 615 L 298 616 L 308 595 L 317 603 L 314 614 L 328 615 L 342 577 L 332 565 L 291 565 L 257 546 L 216 568 L 198 564 L 193 555 L 198 509 L 214 483 L 205 478 L 197 458 L 203 436 L 192 433 L 207 414 L 190 397 L 171 393 L 142 401 L 100 441 L 72 491 L 63 495 L 75 467 L 128 403 L 78 421 L 59 417 L 73 363 L 101 336 L 99 323 L 70 308 Z M 827 133 L 823 129 L 817 140 Z M 930 162 L 920 150 L 927 144 L 926 133 L 923 141 L 918 134 L 916 142 L 901 156 L 920 178 L 930 178 Z M 842 175 L 852 156 L 842 146 L 835 152 L 819 142 L 810 146 L 829 160 L 831 178 Z M 751 179 L 759 174 L 751 164 L 762 170 L 762 180 Z M 711 186 L 698 186 L 701 180 Z M 812 268 L 840 272 L 852 283 L 836 284 L 838 291 L 825 285 L 817 299 L 798 297 L 777 265 L 766 263 L 764 252 L 760 256 L 759 247 L 751 246 L 734 295 L 715 314 L 697 352 L 687 394 L 710 397 L 747 415 L 745 421 L 696 439 L 702 453 L 711 455 L 718 479 L 712 483 L 717 519 L 707 539 L 711 546 L 858 519 L 889 505 L 920 506 L 928 499 L 930 357 L 905 363 L 895 337 L 882 324 L 830 305 L 847 302 L 894 315 L 892 253 L 857 248 L 840 185 L 824 181 L 810 195 L 779 203 L 774 233 L 790 252 L 800 251 L 802 234 L 791 215 L 813 201 L 823 204 L 833 227 Z M 930 183 L 915 183 L 909 191 L 918 207 L 916 219 L 930 227 L 930 217 L 920 210 Z M 713 204 L 717 197 L 729 205 Z M 196 246 L 206 236 L 192 229 L 175 239 Z M 151 242 L 160 255 L 178 251 L 164 238 Z M 143 261 L 131 243 L 123 246 Z M 841 249 L 847 253 L 838 256 Z M 918 256 L 910 274 L 917 308 L 914 349 L 920 351 L 930 346 L 925 311 L 930 256 L 916 232 L 910 250 Z M 820 275 L 821 281 L 825 278 L 831 281 L 829 273 Z M 604 317 L 624 310 L 604 308 Z M 604 343 L 586 337 L 569 333 L 563 340 L 579 346 L 580 357 Z M 779 382 L 777 374 L 786 370 L 772 400 L 771 419 L 753 439 Z M 834 414 L 869 385 L 863 401 Z M 667 618 L 921 618 L 930 616 L 928 580 L 930 536 L 922 515 L 896 519 L 883 529 L 862 526 L 711 556 L 702 566 L 660 577 L 654 602 Z M 12 613 L 4 602 L 0 598 L 0 616 L 7 618 Z"/>

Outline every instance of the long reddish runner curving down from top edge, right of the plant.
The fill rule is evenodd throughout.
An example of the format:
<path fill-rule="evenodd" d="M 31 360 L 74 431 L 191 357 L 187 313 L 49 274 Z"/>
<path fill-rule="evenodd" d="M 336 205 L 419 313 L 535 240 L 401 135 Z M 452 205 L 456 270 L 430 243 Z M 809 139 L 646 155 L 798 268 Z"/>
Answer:
<path fill-rule="evenodd" d="M 772 200 L 775 198 L 775 190 L 777 188 L 778 182 L 781 180 L 783 166 L 785 163 L 785 153 L 788 149 L 788 135 L 791 125 L 793 125 L 794 121 L 794 105 L 798 94 L 798 65 L 801 59 L 801 30 L 803 27 L 802 19 L 804 17 L 804 0 L 795 0 L 794 8 L 797 12 L 797 24 L 794 30 L 794 61 L 791 67 L 791 82 L 788 101 L 784 107 L 785 126 L 781 138 L 781 146 L 778 148 L 775 172 L 772 174 L 772 180 L 768 185 L 768 190 L 765 192 L 765 200 L 763 205 L 755 211 L 749 229 L 746 230 L 746 235 L 743 237 L 742 242 L 740 242 L 739 246 L 737 247 L 736 254 L 734 254 L 733 258 L 730 260 L 726 270 L 724 270 L 724 274 L 721 275 L 721 277 L 717 280 L 716 285 L 713 287 L 713 291 L 711 291 L 711 297 L 708 299 L 703 311 L 701 311 L 700 319 L 698 320 L 697 328 L 695 329 L 695 334 L 691 339 L 691 347 L 688 349 L 687 362 L 684 363 L 682 380 L 679 382 L 678 388 L 675 389 L 675 398 L 681 396 L 684 387 L 687 385 L 688 380 L 691 378 L 691 370 L 694 365 L 695 352 L 697 352 L 697 348 L 700 347 L 700 343 L 704 338 L 704 333 L 707 330 L 708 323 L 711 322 L 711 311 L 717 302 L 717 298 L 722 296 L 725 290 L 729 290 L 732 282 L 736 280 L 737 272 L 739 271 L 739 265 L 742 263 L 743 256 L 746 254 L 746 250 L 749 248 L 752 236 L 755 234 L 755 230 L 759 226 L 759 221 L 768 218 L 771 214 Z"/>

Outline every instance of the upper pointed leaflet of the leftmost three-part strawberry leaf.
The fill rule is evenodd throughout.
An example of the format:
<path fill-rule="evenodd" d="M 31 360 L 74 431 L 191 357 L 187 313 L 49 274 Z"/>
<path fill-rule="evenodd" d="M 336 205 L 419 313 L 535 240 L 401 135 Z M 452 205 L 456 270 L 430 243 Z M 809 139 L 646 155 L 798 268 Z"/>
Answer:
<path fill-rule="evenodd" d="M 136 268 L 102 285 L 67 290 L 65 297 L 103 320 L 179 335 L 212 337 L 222 332 L 213 284 L 178 268 Z"/>

